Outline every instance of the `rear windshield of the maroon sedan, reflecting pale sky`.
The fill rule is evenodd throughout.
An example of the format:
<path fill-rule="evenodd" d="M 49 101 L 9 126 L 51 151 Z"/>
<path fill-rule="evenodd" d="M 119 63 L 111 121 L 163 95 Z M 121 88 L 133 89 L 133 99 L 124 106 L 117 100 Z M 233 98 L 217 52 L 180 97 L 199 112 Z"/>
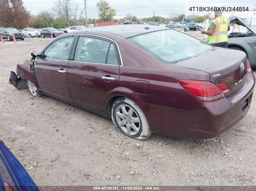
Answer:
<path fill-rule="evenodd" d="M 212 46 L 176 30 L 160 30 L 128 38 L 163 63 L 194 58 L 213 49 Z"/>

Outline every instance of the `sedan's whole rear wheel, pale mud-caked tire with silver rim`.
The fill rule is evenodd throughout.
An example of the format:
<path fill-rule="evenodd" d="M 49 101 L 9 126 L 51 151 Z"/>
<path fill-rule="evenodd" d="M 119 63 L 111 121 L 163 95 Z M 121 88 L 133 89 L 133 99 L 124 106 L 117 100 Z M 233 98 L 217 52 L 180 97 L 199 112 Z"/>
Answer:
<path fill-rule="evenodd" d="M 151 135 L 146 116 L 138 105 L 128 98 L 120 97 L 114 101 L 111 118 L 118 131 L 130 138 L 145 140 Z M 134 123 L 132 123 L 133 120 Z"/>

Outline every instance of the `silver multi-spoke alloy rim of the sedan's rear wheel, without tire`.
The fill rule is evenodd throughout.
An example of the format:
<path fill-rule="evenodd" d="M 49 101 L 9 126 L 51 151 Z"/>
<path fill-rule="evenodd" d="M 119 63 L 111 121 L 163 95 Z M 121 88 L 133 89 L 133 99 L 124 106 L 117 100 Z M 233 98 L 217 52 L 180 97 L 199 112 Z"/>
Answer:
<path fill-rule="evenodd" d="M 120 128 L 128 135 L 136 135 L 141 128 L 138 113 L 128 105 L 118 106 L 115 117 Z"/>

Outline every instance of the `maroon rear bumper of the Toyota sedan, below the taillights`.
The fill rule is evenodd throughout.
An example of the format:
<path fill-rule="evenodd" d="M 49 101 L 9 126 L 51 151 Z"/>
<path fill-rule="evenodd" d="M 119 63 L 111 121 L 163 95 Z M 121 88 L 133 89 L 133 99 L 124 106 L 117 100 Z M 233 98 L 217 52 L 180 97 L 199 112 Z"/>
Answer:
<path fill-rule="evenodd" d="M 254 90 L 254 75 L 235 96 L 212 103 L 202 103 L 194 110 L 176 110 L 169 107 L 137 103 L 144 111 L 153 133 L 183 138 L 211 139 L 218 137 L 248 112 Z M 248 99 L 247 108 L 242 105 Z"/>

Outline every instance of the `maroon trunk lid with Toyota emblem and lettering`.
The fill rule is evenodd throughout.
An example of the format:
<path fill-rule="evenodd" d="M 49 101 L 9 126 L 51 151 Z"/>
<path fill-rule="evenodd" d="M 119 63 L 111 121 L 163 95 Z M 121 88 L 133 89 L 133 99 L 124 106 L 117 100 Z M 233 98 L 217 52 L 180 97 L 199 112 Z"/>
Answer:
<path fill-rule="evenodd" d="M 231 92 L 226 95 L 227 98 L 236 94 L 247 79 L 247 56 L 239 50 L 215 47 L 193 59 L 171 65 L 209 73 L 209 81 L 213 84 L 226 84 L 230 88 Z"/>

